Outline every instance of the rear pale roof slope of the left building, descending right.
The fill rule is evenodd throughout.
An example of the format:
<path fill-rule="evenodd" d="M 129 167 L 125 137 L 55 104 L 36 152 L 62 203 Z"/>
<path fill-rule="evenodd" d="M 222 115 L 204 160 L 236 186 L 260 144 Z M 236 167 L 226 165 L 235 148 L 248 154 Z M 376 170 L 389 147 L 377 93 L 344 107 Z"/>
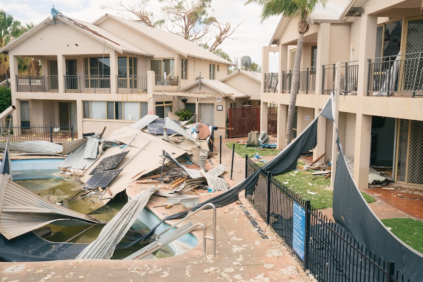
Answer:
<path fill-rule="evenodd" d="M 148 37 L 149 39 L 170 50 L 177 52 L 178 54 L 181 54 L 184 57 L 194 57 L 228 65 L 235 65 L 234 63 L 231 63 L 228 60 L 225 60 L 224 58 L 185 40 L 179 35 L 116 17 L 114 15 L 105 14 L 103 17 L 96 20 L 93 24 L 99 25 L 106 21 L 106 19 L 113 19 L 125 26 L 128 26 L 132 30 L 135 30 L 136 32 Z"/>

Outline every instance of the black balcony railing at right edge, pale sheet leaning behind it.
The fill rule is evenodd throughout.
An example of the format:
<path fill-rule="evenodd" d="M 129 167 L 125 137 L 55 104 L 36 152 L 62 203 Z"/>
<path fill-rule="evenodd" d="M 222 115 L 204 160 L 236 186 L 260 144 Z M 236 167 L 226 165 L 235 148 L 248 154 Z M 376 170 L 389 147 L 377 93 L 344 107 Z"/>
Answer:
<path fill-rule="evenodd" d="M 423 96 L 423 52 L 370 59 L 368 81 L 368 96 Z"/>

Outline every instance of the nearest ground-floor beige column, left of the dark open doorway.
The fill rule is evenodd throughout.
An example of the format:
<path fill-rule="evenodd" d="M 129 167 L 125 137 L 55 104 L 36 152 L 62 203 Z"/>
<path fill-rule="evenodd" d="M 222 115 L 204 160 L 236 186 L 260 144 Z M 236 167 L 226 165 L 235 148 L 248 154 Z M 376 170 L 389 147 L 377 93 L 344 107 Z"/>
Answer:
<path fill-rule="evenodd" d="M 371 116 L 357 113 L 355 122 L 354 181 L 359 189 L 369 186 Z"/>

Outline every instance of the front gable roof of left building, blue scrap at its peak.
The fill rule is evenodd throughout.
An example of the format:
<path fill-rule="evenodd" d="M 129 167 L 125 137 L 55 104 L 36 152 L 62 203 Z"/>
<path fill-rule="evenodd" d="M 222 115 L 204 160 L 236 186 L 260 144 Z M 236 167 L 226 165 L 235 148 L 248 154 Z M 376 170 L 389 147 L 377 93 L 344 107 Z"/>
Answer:
<path fill-rule="evenodd" d="M 135 53 L 135 54 L 140 54 L 145 56 L 153 56 L 153 54 L 151 54 L 150 52 L 145 51 L 133 45 L 132 43 L 129 43 L 128 41 L 112 34 L 111 32 L 108 32 L 107 30 L 99 26 L 95 26 L 93 24 L 86 23 L 79 20 L 74 20 L 62 14 L 56 15 L 55 24 L 58 24 L 58 22 L 62 22 L 64 24 L 67 24 L 68 26 L 71 26 L 79 30 L 85 35 L 91 38 L 94 38 L 95 40 L 101 42 L 102 44 L 105 44 L 107 47 L 115 51 L 118 51 L 119 53 L 129 52 L 129 53 Z M 24 33 L 23 35 L 21 35 L 20 37 L 18 37 L 17 39 L 12 41 L 8 45 L 6 45 L 4 48 L 0 49 L 0 53 L 3 51 L 11 50 L 13 47 L 25 41 L 26 38 L 32 36 L 37 31 L 41 30 L 42 28 L 52 23 L 53 23 L 53 20 L 51 20 L 50 18 L 45 19 L 43 22 L 29 29 L 26 33 Z"/>

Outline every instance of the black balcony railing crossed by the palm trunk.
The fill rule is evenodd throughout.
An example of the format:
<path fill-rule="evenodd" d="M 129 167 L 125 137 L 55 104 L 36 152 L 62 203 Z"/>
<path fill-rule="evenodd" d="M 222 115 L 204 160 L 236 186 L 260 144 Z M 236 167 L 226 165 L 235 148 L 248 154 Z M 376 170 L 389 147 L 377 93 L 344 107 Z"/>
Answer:
<path fill-rule="evenodd" d="M 291 91 L 292 70 L 282 72 L 282 91 L 289 93 Z M 300 69 L 300 77 L 298 82 L 298 92 L 309 94 L 316 89 L 316 68 Z"/>

